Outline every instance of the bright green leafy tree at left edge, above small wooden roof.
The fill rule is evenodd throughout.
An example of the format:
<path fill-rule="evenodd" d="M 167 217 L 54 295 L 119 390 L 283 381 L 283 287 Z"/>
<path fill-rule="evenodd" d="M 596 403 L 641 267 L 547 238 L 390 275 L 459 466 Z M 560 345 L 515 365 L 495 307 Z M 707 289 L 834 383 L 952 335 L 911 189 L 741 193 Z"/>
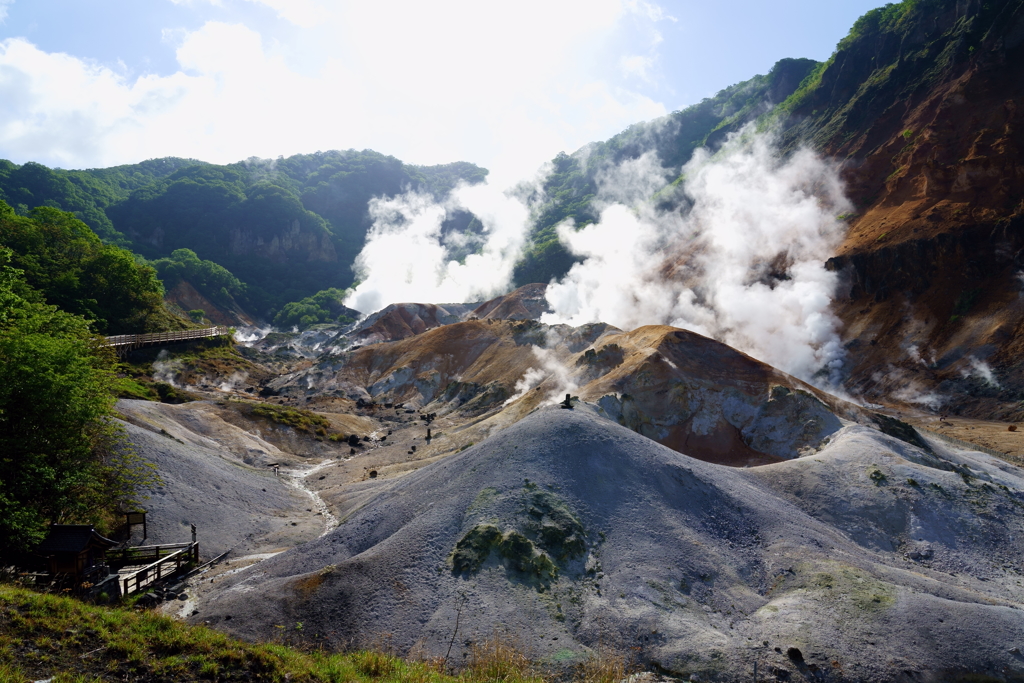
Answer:
<path fill-rule="evenodd" d="M 88 323 L 20 296 L 0 248 L 0 552 L 30 548 L 51 522 L 103 526 L 153 481 L 112 421 L 115 359 Z"/>

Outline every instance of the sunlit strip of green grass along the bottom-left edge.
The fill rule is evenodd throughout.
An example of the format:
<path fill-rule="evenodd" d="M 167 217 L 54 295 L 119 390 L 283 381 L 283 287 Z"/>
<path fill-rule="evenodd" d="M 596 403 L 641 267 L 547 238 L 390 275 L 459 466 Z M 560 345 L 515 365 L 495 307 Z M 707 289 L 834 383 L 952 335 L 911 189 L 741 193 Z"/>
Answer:
<path fill-rule="evenodd" d="M 585 666 L 586 683 L 626 672 Z M 543 683 L 521 653 L 481 645 L 458 675 L 440 660 L 407 661 L 379 651 L 329 653 L 253 644 L 206 627 L 125 607 L 0 585 L 0 683 L 93 681 L 288 681 L 345 683 Z"/>

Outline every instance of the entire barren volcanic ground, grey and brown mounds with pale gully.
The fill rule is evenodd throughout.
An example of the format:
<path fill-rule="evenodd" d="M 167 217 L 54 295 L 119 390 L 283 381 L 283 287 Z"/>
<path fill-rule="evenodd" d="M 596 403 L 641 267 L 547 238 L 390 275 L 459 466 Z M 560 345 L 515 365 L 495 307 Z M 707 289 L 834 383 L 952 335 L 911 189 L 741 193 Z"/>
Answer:
<path fill-rule="evenodd" d="M 278 335 L 307 357 L 265 400 L 205 378 L 218 400 L 122 402 L 165 475 L 157 536 L 200 520 L 205 554 L 232 549 L 165 609 L 456 661 L 507 633 L 553 670 L 610 649 L 700 680 L 1024 676 L 1006 461 L 672 327 L 471 318 L 339 352 L 360 329 Z M 254 367 L 279 362 L 264 342 Z"/>

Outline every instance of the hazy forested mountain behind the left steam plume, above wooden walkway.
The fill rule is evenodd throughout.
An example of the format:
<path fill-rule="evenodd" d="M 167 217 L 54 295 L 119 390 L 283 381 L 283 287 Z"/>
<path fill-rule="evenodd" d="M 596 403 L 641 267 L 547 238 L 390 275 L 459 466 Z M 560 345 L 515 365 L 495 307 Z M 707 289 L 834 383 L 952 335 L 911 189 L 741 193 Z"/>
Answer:
<path fill-rule="evenodd" d="M 226 268 L 239 283 L 232 296 L 244 290 L 253 312 L 269 316 L 288 302 L 351 284 L 370 199 L 408 189 L 441 197 L 460 180 L 485 175 L 464 162 L 412 166 L 371 151 L 224 166 L 159 159 L 85 171 L 0 161 L 0 200 L 22 215 L 38 206 L 72 212 L 105 242 L 146 259 L 190 250 Z M 158 267 L 163 274 L 168 264 Z M 191 284 L 212 300 L 223 286 Z"/>

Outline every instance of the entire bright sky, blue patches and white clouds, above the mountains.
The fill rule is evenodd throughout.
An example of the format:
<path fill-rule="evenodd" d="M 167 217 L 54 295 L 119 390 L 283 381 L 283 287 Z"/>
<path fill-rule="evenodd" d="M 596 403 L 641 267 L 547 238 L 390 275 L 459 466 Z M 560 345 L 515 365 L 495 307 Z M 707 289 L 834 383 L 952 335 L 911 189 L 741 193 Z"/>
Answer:
<path fill-rule="evenodd" d="M 877 0 L 0 0 L 0 158 L 371 147 L 509 177 L 824 59 Z"/>

